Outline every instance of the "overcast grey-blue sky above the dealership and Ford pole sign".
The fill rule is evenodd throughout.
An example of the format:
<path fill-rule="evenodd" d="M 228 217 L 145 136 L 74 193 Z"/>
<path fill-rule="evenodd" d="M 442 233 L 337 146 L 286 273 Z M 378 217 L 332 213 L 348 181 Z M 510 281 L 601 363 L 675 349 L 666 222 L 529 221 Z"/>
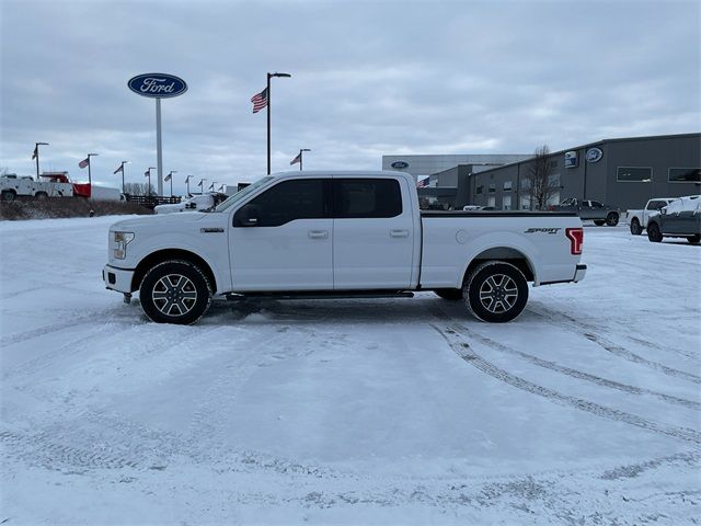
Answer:
<path fill-rule="evenodd" d="M 156 165 L 146 72 L 183 78 L 164 100 L 163 168 L 209 182 L 273 171 L 380 169 L 382 155 L 529 153 L 701 129 L 701 2 L 0 0 L 0 168 L 93 179 Z M 166 186 L 168 187 L 168 186 Z"/>

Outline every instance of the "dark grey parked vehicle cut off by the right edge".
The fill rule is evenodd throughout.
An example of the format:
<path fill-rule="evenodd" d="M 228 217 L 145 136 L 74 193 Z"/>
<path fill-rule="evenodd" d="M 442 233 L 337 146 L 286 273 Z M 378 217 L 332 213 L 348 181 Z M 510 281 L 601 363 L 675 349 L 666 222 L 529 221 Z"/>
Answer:
<path fill-rule="evenodd" d="M 687 238 L 701 241 L 701 195 L 679 197 L 647 220 L 647 239 L 658 243 L 663 238 Z"/>

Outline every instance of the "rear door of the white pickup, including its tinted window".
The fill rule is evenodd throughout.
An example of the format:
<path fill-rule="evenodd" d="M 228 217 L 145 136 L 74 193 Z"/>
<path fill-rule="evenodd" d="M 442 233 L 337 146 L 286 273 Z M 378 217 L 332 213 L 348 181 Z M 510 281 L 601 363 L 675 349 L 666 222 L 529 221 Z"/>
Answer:
<path fill-rule="evenodd" d="M 334 178 L 334 289 L 411 286 L 411 194 L 395 179 Z"/>

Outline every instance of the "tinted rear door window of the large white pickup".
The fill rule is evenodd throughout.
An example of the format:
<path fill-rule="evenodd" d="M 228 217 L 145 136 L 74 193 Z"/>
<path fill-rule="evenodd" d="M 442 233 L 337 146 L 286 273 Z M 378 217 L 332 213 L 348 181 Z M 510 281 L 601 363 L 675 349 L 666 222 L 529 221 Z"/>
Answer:
<path fill-rule="evenodd" d="M 337 218 L 397 217 L 402 193 L 395 179 L 334 179 L 334 216 Z"/>

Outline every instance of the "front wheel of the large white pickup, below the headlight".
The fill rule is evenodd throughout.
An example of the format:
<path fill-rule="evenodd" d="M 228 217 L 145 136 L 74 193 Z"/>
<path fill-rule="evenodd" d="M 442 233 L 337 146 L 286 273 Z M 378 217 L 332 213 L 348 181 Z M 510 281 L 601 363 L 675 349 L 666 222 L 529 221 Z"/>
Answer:
<path fill-rule="evenodd" d="M 146 273 L 139 298 L 143 312 L 152 321 L 188 325 L 209 309 L 211 285 L 191 262 L 165 261 Z"/>

